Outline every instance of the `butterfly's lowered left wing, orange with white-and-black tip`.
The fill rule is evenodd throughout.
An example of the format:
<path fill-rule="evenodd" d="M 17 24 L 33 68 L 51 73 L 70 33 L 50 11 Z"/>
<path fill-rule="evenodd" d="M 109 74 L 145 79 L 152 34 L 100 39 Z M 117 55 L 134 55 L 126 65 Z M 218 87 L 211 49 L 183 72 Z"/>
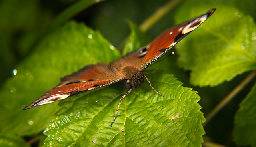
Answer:
<path fill-rule="evenodd" d="M 116 78 L 104 64 L 85 66 L 74 74 L 62 77 L 58 86 L 44 93 L 24 109 L 59 101 L 122 80 Z"/>

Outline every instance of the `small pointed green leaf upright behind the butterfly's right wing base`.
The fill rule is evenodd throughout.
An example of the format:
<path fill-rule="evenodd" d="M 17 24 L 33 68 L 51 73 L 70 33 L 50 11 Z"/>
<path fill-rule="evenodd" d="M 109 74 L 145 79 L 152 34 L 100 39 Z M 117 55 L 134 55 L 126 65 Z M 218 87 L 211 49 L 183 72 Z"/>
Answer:
<path fill-rule="evenodd" d="M 140 31 L 140 28 L 137 25 L 132 23 L 130 20 L 128 20 L 128 23 L 130 26 L 131 34 L 128 42 L 126 42 L 126 46 L 124 47 L 123 55 L 126 55 L 133 50 L 145 46 L 152 41 L 148 35 Z"/>

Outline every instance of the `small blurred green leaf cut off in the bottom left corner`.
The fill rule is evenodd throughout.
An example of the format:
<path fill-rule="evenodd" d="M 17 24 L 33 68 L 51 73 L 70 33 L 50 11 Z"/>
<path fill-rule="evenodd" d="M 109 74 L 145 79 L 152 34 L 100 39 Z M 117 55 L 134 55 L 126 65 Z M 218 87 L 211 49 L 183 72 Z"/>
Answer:
<path fill-rule="evenodd" d="M 29 147 L 26 141 L 13 135 L 0 134 L 1 147 Z"/>

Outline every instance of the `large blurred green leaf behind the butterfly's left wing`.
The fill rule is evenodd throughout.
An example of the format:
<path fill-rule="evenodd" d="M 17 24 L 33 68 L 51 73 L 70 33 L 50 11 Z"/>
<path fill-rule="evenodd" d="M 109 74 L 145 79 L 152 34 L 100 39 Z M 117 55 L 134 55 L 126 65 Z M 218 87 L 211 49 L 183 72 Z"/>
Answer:
<path fill-rule="evenodd" d="M 16 66 L 18 73 L 2 86 L 0 130 L 18 135 L 39 133 L 53 119 L 58 103 L 22 110 L 26 105 L 56 86 L 63 75 L 88 64 L 108 63 L 120 56 L 98 32 L 84 24 L 70 22 L 56 30 Z"/>

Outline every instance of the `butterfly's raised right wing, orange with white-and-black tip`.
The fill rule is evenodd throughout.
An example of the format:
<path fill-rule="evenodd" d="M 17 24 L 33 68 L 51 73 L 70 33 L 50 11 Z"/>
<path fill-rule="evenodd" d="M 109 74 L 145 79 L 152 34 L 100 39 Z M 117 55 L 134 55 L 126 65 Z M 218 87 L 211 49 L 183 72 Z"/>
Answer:
<path fill-rule="evenodd" d="M 148 52 L 142 60 L 141 70 L 144 70 L 158 58 L 163 56 L 170 48 L 180 42 L 190 32 L 195 30 L 200 24 L 207 20 L 216 9 L 208 11 L 197 18 L 193 18 L 188 22 L 184 22 L 178 26 L 172 27 L 166 30 L 160 36 L 158 36 L 149 46 Z"/>

